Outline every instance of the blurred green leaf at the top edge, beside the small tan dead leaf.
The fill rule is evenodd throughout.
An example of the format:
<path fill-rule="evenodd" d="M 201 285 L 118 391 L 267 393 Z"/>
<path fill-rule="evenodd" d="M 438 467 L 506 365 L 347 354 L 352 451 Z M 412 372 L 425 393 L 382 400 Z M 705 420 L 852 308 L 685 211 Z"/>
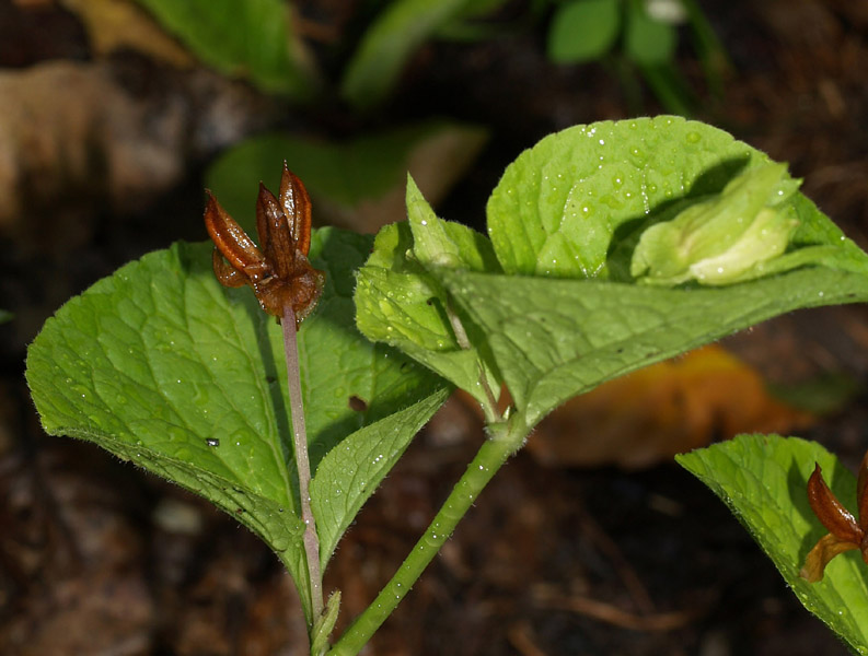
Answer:
<path fill-rule="evenodd" d="M 313 92 L 306 56 L 283 0 L 137 0 L 205 63 L 265 91 L 303 101 Z"/>

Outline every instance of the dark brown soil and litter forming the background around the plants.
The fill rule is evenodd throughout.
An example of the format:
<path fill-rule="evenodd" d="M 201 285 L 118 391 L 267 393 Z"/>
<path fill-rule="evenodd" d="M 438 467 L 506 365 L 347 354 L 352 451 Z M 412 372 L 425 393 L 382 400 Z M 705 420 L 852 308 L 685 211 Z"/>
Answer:
<path fill-rule="evenodd" d="M 0 8 L 0 66 L 24 71 L 56 58 L 90 61 L 74 15 L 50 2 L 27 4 Z M 302 3 L 321 17 L 338 4 Z M 805 177 L 802 190 L 868 247 L 868 4 L 702 4 L 732 69 L 722 95 L 708 94 L 693 51 L 683 47 L 680 67 L 699 99 L 696 117 L 789 162 Z M 508 3 L 505 16 L 521 15 L 522 7 Z M 125 83 L 147 71 L 158 82 L 175 80 L 158 90 L 182 93 L 184 86 L 182 73 L 138 55 L 113 56 L 108 66 L 124 71 Z M 662 112 L 641 86 L 638 97 L 625 93 L 612 70 L 612 62 L 554 67 L 544 57 L 542 30 L 525 27 L 477 44 L 426 46 L 393 101 L 367 122 L 331 107 L 277 122 L 346 133 L 438 114 L 489 126 L 489 148 L 439 208 L 478 225 L 504 167 L 542 136 Z M 162 93 L 148 80 L 136 93 Z M 257 127 L 255 120 L 243 125 L 239 137 Z M 2 654 L 303 654 L 294 589 L 264 544 L 208 503 L 94 446 L 45 436 L 23 382 L 26 343 L 66 297 L 146 250 L 204 238 L 196 222 L 211 154 L 190 149 L 173 188 L 146 195 L 140 210 L 118 211 L 99 198 L 77 206 L 78 236 L 68 248 L 45 246 L 50 235 L 42 233 L 50 225 L 0 236 L 0 307 L 16 317 L 0 327 Z M 65 211 L 58 203 L 59 216 Z M 868 383 L 864 306 L 797 313 L 725 343 L 773 382 L 843 372 L 863 389 Z M 803 436 L 855 469 L 868 447 L 866 400 L 857 395 Z M 451 402 L 416 440 L 328 571 L 327 587 L 343 590 L 345 617 L 373 598 L 482 438 L 463 407 Z M 726 507 L 674 464 L 639 472 L 545 469 L 521 453 L 366 653 L 847 652 L 800 606 Z"/>

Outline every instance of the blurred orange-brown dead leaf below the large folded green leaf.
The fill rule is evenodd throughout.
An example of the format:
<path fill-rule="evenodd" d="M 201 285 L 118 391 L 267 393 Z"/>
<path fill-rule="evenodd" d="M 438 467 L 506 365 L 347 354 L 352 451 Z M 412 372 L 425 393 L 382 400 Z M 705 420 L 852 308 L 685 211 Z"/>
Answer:
<path fill-rule="evenodd" d="M 528 443 L 542 464 L 638 469 L 738 433 L 786 433 L 813 417 L 772 398 L 762 376 L 718 345 L 661 362 L 568 401 Z"/>

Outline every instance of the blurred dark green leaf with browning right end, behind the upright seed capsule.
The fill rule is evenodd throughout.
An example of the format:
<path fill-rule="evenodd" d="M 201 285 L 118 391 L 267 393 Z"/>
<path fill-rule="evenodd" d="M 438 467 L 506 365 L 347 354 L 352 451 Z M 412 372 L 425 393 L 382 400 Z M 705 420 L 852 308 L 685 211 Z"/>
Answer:
<path fill-rule="evenodd" d="M 485 140 L 484 129 L 449 121 L 403 126 L 343 143 L 275 132 L 224 153 L 208 171 L 207 185 L 250 232 L 256 208 L 251 189 L 261 180 L 277 189 L 286 160 L 311 194 L 315 222 L 366 226 L 377 221 L 375 231 L 389 219 L 404 218 L 401 201 L 407 171 L 420 179 L 426 194 L 442 195 Z M 398 202 L 393 203 L 393 197 Z M 393 204 L 400 215 L 385 215 Z M 379 216 L 368 219 L 369 214 Z"/>

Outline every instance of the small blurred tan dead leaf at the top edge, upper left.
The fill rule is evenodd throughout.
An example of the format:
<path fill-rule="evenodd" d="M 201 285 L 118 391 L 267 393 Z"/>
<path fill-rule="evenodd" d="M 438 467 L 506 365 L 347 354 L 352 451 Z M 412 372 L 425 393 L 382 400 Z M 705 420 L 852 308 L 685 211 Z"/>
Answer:
<path fill-rule="evenodd" d="M 128 0 L 60 0 L 60 3 L 84 23 L 95 55 L 129 48 L 178 68 L 195 63 L 187 50 Z"/>

